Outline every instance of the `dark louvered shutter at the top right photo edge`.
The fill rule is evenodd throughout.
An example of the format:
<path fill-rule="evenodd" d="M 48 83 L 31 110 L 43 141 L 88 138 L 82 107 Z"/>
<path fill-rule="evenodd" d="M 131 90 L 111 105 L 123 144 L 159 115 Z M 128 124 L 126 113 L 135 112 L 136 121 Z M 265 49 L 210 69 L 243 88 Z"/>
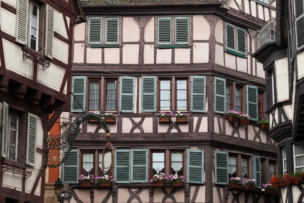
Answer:
<path fill-rule="evenodd" d="M 303 0 L 295 0 L 295 29 L 297 49 L 304 46 L 304 8 Z"/>

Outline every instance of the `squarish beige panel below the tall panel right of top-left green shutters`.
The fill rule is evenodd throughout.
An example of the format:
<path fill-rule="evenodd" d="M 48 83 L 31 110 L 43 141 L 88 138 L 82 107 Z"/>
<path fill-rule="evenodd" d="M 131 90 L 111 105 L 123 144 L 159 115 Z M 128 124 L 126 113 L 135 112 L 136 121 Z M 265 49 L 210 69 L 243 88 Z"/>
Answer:
<path fill-rule="evenodd" d="M 123 46 L 123 63 L 138 64 L 139 45 Z"/>

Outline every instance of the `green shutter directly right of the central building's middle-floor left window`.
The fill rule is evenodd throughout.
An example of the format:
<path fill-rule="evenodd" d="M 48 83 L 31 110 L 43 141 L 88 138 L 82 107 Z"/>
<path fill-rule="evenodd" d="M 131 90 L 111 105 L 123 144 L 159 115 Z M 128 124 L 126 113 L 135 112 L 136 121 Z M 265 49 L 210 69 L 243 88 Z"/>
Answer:
<path fill-rule="evenodd" d="M 121 112 L 134 112 L 135 77 L 120 77 L 120 106 Z"/>

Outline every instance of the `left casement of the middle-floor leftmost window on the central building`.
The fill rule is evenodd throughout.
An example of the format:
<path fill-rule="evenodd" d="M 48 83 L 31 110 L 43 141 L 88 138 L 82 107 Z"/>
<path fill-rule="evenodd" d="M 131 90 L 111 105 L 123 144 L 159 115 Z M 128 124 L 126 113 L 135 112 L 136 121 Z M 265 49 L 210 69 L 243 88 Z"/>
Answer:
<path fill-rule="evenodd" d="M 100 80 L 89 79 L 89 111 L 100 110 Z"/>

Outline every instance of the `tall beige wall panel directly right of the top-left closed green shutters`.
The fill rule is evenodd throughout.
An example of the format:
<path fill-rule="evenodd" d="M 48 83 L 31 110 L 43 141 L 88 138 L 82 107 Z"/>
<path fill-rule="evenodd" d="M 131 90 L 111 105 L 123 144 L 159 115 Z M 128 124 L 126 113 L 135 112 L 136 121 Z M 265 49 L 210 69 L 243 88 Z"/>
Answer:
<path fill-rule="evenodd" d="M 123 42 L 139 42 L 140 27 L 133 17 L 123 19 Z"/>

